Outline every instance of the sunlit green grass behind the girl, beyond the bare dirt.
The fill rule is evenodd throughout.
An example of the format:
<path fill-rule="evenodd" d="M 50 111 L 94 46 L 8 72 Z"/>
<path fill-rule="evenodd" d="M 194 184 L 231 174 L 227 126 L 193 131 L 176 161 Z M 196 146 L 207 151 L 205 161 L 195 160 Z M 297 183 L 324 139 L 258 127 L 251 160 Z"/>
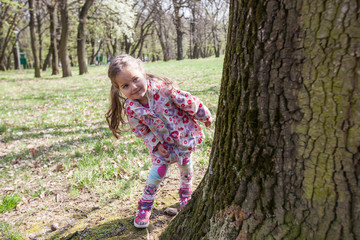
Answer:
<path fill-rule="evenodd" d="M 155 62 L 145 68 L 176 80 L 215 117 L 222 62 Z M 147 176 L 149 153 L 131 132 L 117 140 L 108 129 L 107 66 L 89 67 L 89 74 L 81 76 L 73 69 L 73 74 L 61 78 L 48 71 L 35 79 L 33 70 L 0 73 L 0 186 L 15 185 L 27 198 L 48 193 L 46 180 L 30 181 L 36 172 L 62 179 L 74 195 L 86 189 L 104 200 L 129 196 Z M 194 159 L 206 166 L 214 127 L 203 129 L 207 140 Z"/>

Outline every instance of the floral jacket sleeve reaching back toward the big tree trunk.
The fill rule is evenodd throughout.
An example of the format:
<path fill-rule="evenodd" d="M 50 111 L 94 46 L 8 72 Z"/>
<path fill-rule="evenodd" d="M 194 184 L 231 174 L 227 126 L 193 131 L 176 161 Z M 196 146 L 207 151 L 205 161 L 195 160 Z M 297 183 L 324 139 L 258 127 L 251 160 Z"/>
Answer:
<path fill-rule="evenodd" d="M 174 104 L 181 110 L 187 112 L 191 117 L 201 122 L 205 122 L 211 118 L 209 109 L 195 96 L 190 93 L 173 89 L 171 98 Z"/>

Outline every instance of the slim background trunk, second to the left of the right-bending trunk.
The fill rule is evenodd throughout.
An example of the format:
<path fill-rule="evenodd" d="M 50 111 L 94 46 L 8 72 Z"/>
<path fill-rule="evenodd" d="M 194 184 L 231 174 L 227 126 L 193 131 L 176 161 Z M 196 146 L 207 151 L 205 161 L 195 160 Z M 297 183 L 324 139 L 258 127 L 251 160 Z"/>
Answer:
<path fill-rule="evenodd" d="M 54 5 L 47 5 L 48 12 L 50 15 L 50 44 L 51 44 L 51 55 L 52 55 L 52 75 L 59 74 L 59 57 L 57 50 L 57 39 L 56 39 L 56 9 L 57 2 Z"/>

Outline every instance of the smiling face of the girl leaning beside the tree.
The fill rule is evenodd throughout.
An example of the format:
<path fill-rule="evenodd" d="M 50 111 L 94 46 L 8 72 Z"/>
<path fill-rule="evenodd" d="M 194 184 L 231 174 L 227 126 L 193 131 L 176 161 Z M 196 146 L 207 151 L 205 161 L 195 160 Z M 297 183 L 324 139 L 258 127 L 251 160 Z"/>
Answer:
<path fill-rule="evenodd" d="M 145 73 L 137 66 L 128 65 L 115 78 L 125 97 L 147 104 L 147 81 Z"/>

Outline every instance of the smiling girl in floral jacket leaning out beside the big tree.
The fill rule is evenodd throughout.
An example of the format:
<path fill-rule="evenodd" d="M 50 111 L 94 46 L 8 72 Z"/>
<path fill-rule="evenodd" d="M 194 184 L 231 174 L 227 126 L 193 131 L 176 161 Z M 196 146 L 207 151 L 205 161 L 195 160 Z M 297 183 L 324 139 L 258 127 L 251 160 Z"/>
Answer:
<path fill-rule="evenodd" d="M 114 136 L 126 124 L 124 113 L 135 135 L 144 140 L 152 158 L 152 167 L 138 211 L 135 227 L 149 226 L 156 191 L 170 164 L 180 169 L 180 210 L 191 198 L 191 153 L 204 139 L 199 120 L 209 127 L 209 110 L 190 93 L 174 87 L 168 78 L 146 74 L 142 62 L 130 55 L 114 58 L 109 66 L 111 105 L 106 120 Z"/>

